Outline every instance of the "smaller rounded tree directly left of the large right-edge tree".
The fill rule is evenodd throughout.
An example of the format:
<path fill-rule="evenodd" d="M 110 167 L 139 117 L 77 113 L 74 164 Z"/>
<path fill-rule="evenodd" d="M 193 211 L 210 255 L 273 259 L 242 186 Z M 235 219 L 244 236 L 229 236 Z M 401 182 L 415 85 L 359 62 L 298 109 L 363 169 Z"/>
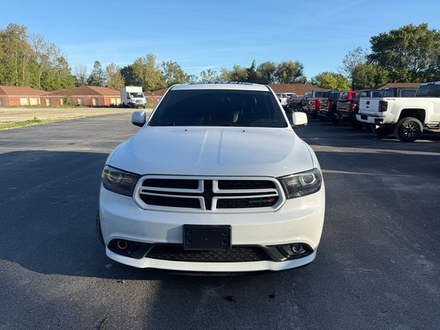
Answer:
<path fill-rule="evenodd" d="M 388 72 L 383 67 L 371 63 L 362 63 L 352 72 L 352 89 L 369 89 L 389 83 Z"/>

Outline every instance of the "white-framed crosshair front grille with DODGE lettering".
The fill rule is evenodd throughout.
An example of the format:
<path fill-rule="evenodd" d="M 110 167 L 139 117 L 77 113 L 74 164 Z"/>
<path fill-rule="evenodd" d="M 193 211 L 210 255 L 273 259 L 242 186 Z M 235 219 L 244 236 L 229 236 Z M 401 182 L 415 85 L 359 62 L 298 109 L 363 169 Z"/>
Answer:
<path fill-rule="evenodd" d="M 146 175 L 133 196 L 141 208 L 176 212 L 273 211 L 284 202 L 279 182 L 271 177 Z"/>

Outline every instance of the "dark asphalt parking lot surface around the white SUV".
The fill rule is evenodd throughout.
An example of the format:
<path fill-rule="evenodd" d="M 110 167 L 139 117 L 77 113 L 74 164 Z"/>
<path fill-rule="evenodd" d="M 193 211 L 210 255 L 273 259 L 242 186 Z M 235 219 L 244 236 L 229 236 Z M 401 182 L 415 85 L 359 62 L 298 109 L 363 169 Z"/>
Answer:
<path fill-rule="evenodd" d="M 327 188 L 316 261 L 182 276 L 107 259 L 100 171 L 128 114 L 0 131 L 0 329 L 440 329 L 440 133 L 312 121 Z"/>

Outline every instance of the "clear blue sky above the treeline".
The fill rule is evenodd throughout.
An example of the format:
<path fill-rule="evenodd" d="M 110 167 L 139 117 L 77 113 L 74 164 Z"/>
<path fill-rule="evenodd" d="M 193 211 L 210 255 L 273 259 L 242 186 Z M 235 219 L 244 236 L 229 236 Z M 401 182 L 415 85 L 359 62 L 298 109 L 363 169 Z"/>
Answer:
<path fill-rule="evenodd" d="M 186 72 L 300 61 L 308 78 L 336 71 L 371 36 L 408 23 L 440 28 L 439 0 L 5 1 L 10 22 L 56 43 L 74 67 L 127 65 L 153 53 Z M 5 14 L 8 13 L 8 14 Z"/>

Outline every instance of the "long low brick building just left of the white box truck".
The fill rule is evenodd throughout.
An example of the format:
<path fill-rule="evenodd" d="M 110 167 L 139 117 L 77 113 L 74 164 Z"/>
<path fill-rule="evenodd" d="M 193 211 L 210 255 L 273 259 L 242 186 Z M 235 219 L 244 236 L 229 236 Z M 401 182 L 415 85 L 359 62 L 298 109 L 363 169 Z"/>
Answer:
<path fill-rule="evenodd" d="M 120 91 L 99 86 L 81 86 L 72 89 L 58 89 L 45 92 L 41 103 L 45 105 L 61 105 L 66 100 L 72 104 L 85 107 L 110 107 L 121 102 Z"/>

